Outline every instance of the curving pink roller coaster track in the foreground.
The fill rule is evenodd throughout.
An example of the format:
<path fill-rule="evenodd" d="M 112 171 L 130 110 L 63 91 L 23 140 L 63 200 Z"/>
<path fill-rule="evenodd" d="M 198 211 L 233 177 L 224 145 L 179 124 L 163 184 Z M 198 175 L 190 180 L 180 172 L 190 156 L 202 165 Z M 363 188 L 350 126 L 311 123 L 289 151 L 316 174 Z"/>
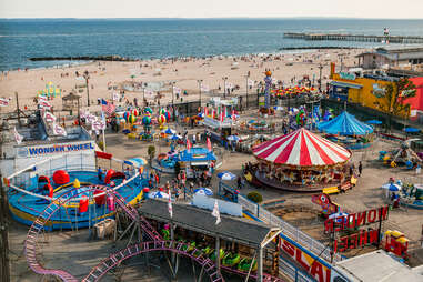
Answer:
<path fill-rule="evenodd" d="M 191 250 L 188 243 L 163 241 L 162 236 L 157 232 L 155 229 L 150 225 L 145 218 L 141 216 L 132 205 L 127 204 L 124 198 L 122 198 L 117 191 L 113 191 L 103 185 L 92 185 L 85 190 L 84 193 L 93 192 L 95 190 L 103 190 L 107 195 L 112 195 L 115 203 L 128 214 L 129 218 L 131 218 L 140 225 L 140 228 L 151 238 L 152 241 L 129 245 L 128 248 L 111 254 L 109 258 L 100 262 L 100 264 L 94 266 L 82 280 L 83 282 L 99 281 L 109 270 L 113 269 L 124 260 L 144 252 L 152 251 L 170 251 L 184 256 L 189 256 L 204 269 L 205 273 L 209 275 L 212 282 L 223 281 L 220 271 L 218 271 L 212 260 L 204 256 L 203 253 L 197 249 Z M 77 189 L 71 189 L 61 194 L 43 210 L 43 212 L 32 223 L 31 228 L 28 231 L 27 240 L 24 241 L 24 253 L 28 265 L 31 268 L 31 270 L 38 274 L 58 276 L 64 282 L 78 282 L 79 280 L 67 271 L 43 268 L 43 265 L 41 265 L 37 260 L 37 241 L 44 225 L 50 221 L 51 216 L 57 211 L 59 211 L 60 207 L 78 197 L 78 194 L 71 194 L 73 191 L 77 191 Z M 67 198 L 67 195 L 72 197 Z M 232 268 L 222 266 L 222 269 L 238 275 L 246 275 L 245 272 Z M 250 278 L 254 279 L 256 275 L 251 274 Z M 283 282 L 281 279 L 271 276 L 269 274 L 263 274 L 263 281 Z"/>

